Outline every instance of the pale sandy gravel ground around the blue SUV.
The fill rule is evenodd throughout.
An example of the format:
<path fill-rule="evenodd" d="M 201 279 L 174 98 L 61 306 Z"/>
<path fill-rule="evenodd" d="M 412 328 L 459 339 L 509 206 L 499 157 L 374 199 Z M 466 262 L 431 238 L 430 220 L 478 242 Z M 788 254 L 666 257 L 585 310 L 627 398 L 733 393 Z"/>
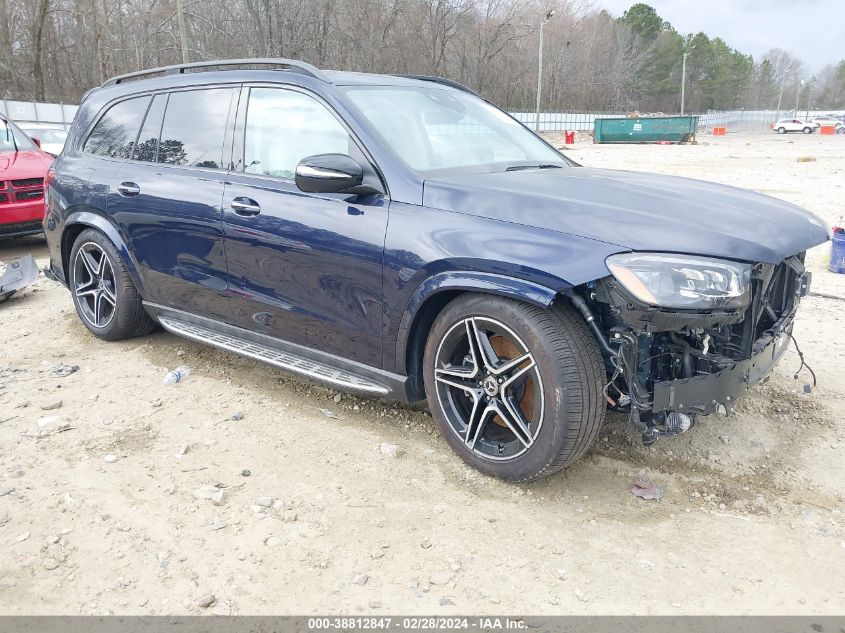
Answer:
<path fill-rule="evenodd" d="M 702 141 L 570 153 L 843 212 L 845 137 Z M 26 252 L 46 263 L 39 239 L 0 241 Z M 826 252 L 814 289 L 845 297 Z M 805 301 L 812 394 L 790 352 L 731 417 L 650 449 L 614 417 L 515 486 L 465 467 L 422 406 L 164 332 L 100 341 L 42 277 L 0 306 L 0 613 L 841 614 L 845 303 Z M 639 476 L 663 498 L 634 497 Z"/>

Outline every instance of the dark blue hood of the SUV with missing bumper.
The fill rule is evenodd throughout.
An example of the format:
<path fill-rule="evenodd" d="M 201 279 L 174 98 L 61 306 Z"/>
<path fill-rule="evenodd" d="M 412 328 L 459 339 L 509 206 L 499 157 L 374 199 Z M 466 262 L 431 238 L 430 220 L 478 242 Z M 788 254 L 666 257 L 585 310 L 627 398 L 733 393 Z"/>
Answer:
<path fill-rule="evenodd" d="M 778 263 L 828 239 L 804 209 L 688 178 L 569 167 L 426 180 L 428 207 L 664 251 Z"/>

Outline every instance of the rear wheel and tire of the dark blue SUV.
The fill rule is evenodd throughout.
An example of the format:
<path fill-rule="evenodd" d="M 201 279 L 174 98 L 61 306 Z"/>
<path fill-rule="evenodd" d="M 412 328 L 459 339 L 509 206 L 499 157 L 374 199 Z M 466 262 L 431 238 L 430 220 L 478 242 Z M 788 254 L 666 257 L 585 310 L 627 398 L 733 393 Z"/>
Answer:
<path fill-rule="evenodd" d="M 119 341 L 155 328 L 114 244 L 95 229 L 73 243 L 68 286 L 79 320 L 98 338 Z"/>

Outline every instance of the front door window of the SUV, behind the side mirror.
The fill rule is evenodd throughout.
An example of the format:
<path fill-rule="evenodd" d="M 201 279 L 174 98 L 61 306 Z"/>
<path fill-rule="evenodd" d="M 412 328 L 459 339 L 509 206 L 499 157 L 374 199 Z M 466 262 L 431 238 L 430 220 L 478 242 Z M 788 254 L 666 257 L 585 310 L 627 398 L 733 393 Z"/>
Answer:
<path fill-rule="evenodd" d="M 292 179 L 296 165 L 315 154 L 349 154 L 352 140 L 319 101 L 281 88 L 252 88 L 244 133 L 250 174 Z"/>

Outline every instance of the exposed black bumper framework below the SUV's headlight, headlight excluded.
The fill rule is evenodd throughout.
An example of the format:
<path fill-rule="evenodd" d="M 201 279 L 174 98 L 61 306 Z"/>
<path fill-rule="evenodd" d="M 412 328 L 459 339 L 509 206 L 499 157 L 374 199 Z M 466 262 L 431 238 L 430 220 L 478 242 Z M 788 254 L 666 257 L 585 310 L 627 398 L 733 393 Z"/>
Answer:
<path fill-rule="evenodd" d="M 603 328 L 573 293 L 573 305 L 604 350 L 608 403 L 629 412 L 644 443 L 684 432 L 696 416 L 722 407 L 730 413 L 734 401 L 765 380 L 786 353 L 811 273 L 794 256 L 776 267 L 761 265 L 753 279 L 756 292 L 744 312 L 654 308 L 609 279 L 591 296 Z"/>

